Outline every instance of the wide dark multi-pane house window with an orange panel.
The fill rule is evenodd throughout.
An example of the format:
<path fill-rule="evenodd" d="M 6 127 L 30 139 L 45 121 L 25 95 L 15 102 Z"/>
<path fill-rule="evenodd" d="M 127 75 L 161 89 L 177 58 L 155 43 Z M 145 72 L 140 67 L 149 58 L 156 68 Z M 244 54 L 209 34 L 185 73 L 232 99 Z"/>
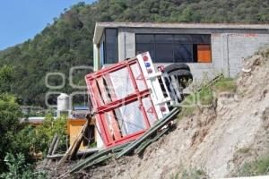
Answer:
<path fill-rule="evenodd" d="M 149 51 L 155 63 L 211 63 L 209 34 L 136 34 L 136 54 Z"/>

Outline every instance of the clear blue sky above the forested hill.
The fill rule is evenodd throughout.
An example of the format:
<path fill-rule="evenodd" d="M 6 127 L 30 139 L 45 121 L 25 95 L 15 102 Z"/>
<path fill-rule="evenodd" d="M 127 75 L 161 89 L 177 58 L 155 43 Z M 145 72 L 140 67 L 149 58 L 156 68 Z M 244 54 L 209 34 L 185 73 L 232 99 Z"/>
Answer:
<path fill-rule="evenodd" d="M 0 50 L 33 38 L 65 8 L 94 0 L 1 0 Z"/>

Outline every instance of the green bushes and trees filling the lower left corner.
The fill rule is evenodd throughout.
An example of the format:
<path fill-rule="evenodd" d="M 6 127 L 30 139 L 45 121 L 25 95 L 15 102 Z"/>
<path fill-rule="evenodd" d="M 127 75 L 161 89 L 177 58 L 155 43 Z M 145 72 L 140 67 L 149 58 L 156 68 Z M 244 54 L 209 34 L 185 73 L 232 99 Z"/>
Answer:
<path fill-rule="evenodd" d="M 32 174 L 30 163 L 40 152 L 46 155 L 55 133 L 62 137 L 58 150 L 65 150 L 66 117 L 55 120 L 48 115 L 36 128 L 20 123 L 21 107 L 10 94 L 13 79 L 11 67 L 4 65 L 0 68 L 0 178 L 33 178 L 39 174 Z M 18 155 L 15 157 L 14 154 Z M 6 171 L 8 173 L 1 175 Z"/>

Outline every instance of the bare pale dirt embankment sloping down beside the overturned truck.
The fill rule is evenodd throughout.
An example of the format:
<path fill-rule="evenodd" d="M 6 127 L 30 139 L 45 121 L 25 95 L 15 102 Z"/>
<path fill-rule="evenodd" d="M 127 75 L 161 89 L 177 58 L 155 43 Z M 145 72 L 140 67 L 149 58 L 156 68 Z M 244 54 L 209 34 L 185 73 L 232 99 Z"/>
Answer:
<path fill-rule="evenodd" d="M 220 178 L 264 155 L 269 150 L 268 54 L 265 50 L 246 60 L 236 93 L 217 93 L 216 105 L 180 119 L 143 157 L 113 160 L 74 177 L 171 178 L 192 169 Z"/>

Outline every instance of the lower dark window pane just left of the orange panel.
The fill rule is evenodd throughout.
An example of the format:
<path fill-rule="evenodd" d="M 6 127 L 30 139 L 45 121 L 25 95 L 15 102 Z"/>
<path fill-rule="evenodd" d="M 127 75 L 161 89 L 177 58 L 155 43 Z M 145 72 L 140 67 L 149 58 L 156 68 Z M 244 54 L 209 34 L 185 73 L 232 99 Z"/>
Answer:
<path fill-rule="evenodd" d="M 175 46 L 175 63 L 193 62 L 193 46 L 189 44 L 178 44 Z"/>

